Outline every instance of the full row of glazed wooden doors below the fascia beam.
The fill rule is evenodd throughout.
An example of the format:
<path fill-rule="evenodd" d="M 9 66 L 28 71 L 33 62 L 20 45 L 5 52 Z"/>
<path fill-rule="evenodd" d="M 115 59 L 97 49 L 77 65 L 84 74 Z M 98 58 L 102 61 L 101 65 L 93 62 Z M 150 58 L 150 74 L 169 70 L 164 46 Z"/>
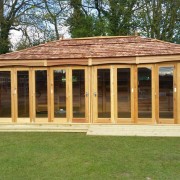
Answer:
<path fill-rule="evenodd" d="M 180 124 L 179 78 L 180 63 L 1 68 L 0 123 Z"/>

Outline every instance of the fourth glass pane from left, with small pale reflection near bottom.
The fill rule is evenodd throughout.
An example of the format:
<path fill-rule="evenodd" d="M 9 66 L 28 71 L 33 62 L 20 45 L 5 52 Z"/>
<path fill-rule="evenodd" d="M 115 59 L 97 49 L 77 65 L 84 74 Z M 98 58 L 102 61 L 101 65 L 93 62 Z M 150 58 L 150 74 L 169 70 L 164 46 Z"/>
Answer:
<path fill-rule="evenodd" d="M 54 117 L 66 117 L 66 71 L 54 71 Z"/>

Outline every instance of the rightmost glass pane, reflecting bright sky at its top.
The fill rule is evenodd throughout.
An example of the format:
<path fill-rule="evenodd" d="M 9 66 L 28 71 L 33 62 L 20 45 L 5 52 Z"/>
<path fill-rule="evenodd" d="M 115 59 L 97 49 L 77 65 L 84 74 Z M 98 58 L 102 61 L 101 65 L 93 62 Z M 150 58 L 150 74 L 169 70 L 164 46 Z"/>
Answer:
<path fill-rule="evenodd" d="M 159 117 L 173 118 L 173 67 L 159 68 Z"/>

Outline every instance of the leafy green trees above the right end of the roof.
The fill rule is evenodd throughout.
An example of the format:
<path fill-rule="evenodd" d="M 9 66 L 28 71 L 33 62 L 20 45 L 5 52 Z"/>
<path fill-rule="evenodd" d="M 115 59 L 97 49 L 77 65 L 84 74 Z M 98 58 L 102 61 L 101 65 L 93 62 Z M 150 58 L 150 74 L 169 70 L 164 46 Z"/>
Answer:
<path fill-rule="evenodd" d="M 180 1 L 143 0 L 138 19 L 141 33 L 147 37 L 178 42 Z"/>

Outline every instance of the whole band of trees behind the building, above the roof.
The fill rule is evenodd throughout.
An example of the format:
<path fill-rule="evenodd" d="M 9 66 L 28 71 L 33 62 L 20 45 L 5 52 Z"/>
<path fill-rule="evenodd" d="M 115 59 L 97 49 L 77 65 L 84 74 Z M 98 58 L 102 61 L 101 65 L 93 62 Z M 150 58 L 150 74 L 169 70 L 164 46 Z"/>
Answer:
<path fill-rule="evenodd" d="M 14 47 L 12 30 L 22 33 Z M 179 0 L 0 0 L 0 54 L 69 36 L 140 35 L 180 43 Z"/>

